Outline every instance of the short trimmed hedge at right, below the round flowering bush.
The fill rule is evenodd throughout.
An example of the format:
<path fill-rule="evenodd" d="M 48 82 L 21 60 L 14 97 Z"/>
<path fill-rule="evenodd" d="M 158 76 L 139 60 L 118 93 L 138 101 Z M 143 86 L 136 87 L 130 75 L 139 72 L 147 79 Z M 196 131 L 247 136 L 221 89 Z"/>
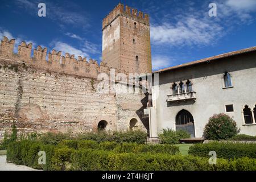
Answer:
<path fill-rule="evenodd" d="M 217 158 L 256 158 L 256 143 L 210 142 L 207 144 L 194 144 L 189 148 L 188 154 L 208 157 L 210 151 L 215 151 Z"/>

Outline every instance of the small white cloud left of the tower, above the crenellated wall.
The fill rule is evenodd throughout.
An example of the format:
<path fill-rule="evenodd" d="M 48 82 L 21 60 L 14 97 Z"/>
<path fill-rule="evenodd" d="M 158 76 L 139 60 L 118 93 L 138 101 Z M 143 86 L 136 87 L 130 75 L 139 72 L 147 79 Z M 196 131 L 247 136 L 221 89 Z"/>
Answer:
<path fill-rule="evenodd" d="M 57 41 L 57 42 L 52 42 L 51 44 L 53 45 L 53 49 L 55 49 L 56 51 L 62 51 L 63 55 L 65 53 L 69 53 L 70 55 L 75 55 L 75 57 L 78 57 L 78 56 L 89 57 L 88 53 L 86 53 L 80 49 L 77 49 L 73 46 L 70 46 L 67 43 Z"/>

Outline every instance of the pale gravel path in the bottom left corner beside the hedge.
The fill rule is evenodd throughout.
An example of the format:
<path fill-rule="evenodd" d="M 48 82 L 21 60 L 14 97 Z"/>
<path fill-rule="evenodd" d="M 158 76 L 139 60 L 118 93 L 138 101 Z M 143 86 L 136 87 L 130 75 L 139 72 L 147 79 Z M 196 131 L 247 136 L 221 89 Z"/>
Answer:
<path fill-rule="evenodd" d="M 6 155 L 0 155 L 0 171 L 37 171 L 27 166 L 18 166 L 13 163 L 6 163 Z"/>

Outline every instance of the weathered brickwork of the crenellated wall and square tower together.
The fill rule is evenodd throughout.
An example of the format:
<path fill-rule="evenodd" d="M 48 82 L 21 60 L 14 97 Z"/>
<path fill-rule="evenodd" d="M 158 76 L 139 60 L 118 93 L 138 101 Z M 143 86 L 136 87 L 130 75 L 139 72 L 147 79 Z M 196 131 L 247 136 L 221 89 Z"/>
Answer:
<path fill-rule="evenodd" d="M 146 94 L 138 81 L 126 84 L 122 80 L 121 84 L 117 76 L 151 72 L 148 15 L 132 12 L 129 7 L 123 11 L 119 4 L 104 19 L 105 62 L 100 65 L 86 57 L 47 52 L 40 46 L 32 52 L 32 44 L 25 42 L 20 43 L 16 54 L 15 40 L 4 37 L 0 46 L 0 139 L 13 122 L 19 133 L 84 133 L 97 131 L 101 121 L 107 123 L 108 131 L 129 130 L 131 121 L 133 129 L 148 130 L 148 119 L 143 118 Z M 117 14 L 122 16 L 115 18 Z M 98 92 L 101 73 L 114 77 L 109 82 L 116 92 Z M 130 85 L 133 93 L 128 92 Z"/>

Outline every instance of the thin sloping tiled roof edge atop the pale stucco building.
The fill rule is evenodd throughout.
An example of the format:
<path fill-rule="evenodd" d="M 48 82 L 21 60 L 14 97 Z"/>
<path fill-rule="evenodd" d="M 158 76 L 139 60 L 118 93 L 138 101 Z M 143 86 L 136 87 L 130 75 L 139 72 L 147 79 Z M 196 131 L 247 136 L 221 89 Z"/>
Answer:
<path fill-rule="evenodd" d="M 192 62 L 189 62 L 189 63 L 184 63 L 184 64 L 176 65 L 174 67 L 160 69 L 158 71 L 155 71 L 154 73 L 171 71 L 173 69 L 188 67 L 190 65 L 195 65 L 195 64 L 200 64 L 200 63 L 207 63 L 209 61 L 213 61 L 213 60 L 217 60 L 217 59 L 222 59 L 224 57 L 230 57 L 230 56 L 234 56 L 234 55 L 240 55 L 242 53 L 251 52 L 251 51 L 256 51 L 256 46 L 255 47 L 246 48 L 246 49 L 241 49 L 239 51 L 233 51 L 233 52 L 224 53 L 222 55 L 208 57 L 208 58 L 197 60 L 197 61 L 192 61 Z"/>

